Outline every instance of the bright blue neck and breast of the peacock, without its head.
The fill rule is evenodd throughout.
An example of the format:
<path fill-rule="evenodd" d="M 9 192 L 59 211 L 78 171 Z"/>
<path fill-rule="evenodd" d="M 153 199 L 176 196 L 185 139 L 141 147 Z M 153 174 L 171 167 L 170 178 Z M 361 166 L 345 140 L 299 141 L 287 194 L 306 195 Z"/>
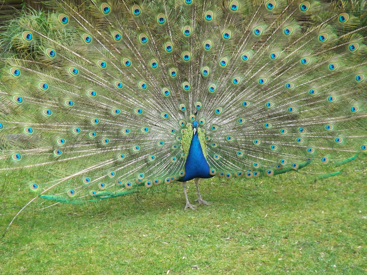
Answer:
<path fill-rule="evenodd" d="M 200 177 L 208 179 L 213 177 L 209 174 L 209 164 L 204 157 L 197 133 L 192 136 L 189 154 L 186 157 L 185 176 L 179 181 L 188 181 Z"/>

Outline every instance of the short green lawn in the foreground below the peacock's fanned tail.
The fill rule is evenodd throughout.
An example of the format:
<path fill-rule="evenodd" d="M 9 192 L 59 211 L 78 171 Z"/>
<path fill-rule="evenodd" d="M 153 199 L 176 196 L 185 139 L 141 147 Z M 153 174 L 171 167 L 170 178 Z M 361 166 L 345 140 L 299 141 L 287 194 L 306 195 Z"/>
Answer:
<path fill-rule="evenodd" d="M 366 172 L 202 180 L 214 203 L 197 211 L 176 183 L 28 210 L 0 241 L 0 274 L 364 274 Z M 0 198 L 1 230 L 30 198 L 17 190 Z"/>

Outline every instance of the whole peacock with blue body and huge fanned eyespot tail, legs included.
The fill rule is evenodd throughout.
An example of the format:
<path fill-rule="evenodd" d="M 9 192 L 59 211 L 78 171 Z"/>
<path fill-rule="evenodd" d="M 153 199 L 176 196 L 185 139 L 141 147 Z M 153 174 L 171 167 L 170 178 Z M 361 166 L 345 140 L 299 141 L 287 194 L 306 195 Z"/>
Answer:
<path fill-rule="evenodd" d="M 199 179 L 324 179 L 367 151 L 363 1 L 43 4 L 0 44 L 0 173 L 27 205 L 177 181 L 195 210 L 190 180 L 210 205 Z"/>

